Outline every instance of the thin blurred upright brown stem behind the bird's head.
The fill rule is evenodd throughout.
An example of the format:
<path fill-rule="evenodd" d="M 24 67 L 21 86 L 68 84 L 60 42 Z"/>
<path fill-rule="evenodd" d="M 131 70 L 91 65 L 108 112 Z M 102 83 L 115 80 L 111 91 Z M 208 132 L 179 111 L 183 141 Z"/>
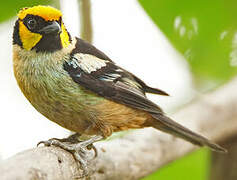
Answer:
<path fill-rule="evenodd" d="M 90 0 L 79 0 L 79 12 L 81 20 L 81 38 L 92 42 L 91 2 Z"/>

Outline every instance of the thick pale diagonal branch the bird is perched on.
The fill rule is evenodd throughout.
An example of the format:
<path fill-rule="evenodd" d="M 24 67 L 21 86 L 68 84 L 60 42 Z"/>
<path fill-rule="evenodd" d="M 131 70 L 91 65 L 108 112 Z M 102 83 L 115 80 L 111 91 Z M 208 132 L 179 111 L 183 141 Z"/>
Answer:
<path fill-rule="evenodd" d="M 178 122 L 215 141 L 237 132 L 237 78 L 173 116 Z M 189 143 L 152 128 L 96 143 L 98 157 L 91 179 L 139 179 L 194 149 Z M 225 156 L 225 155 L 223 155 Z M 0 179 L 73 179 L 80 175 L 70 153 L 57 147 L 30 149 L 0 165 Z"/>

